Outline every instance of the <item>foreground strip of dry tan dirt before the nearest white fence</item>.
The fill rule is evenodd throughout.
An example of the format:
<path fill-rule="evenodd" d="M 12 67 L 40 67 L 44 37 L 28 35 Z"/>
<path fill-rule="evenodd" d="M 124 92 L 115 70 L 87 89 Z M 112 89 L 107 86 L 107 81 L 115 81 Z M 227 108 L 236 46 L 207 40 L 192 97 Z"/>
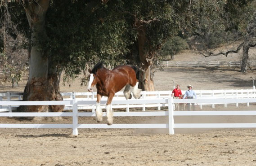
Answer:
<path fill-rule="evenodd" d="M 136 135 L 129 129 L 1 129 L 1 166 L 253 166 L 256 130 Z"/>

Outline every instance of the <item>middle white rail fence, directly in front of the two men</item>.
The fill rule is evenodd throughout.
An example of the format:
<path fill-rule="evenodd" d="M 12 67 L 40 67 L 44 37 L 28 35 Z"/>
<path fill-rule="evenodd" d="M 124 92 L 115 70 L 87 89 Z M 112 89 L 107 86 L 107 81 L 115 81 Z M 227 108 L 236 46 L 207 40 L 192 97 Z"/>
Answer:
<path fill-rule="evenodd" d="M 172 91 L 143 91 L 141 94 L 141 98 L 139 100 L 144 99 L 167 99 L 171 97 Z M 229 98 L 256 98 L 256 90 L 254 89 L 242 89 L 242 90 L 195 90 L 198 99 L 229 99 Z M 184 94 L 185 91 L 182 91 Z M 63 96 L 63 100 L 85 100 L 85 101 L 94 101 L 96 102 L 96 92 L 68 92 L 68 93 L 61 93 Z M 15 101 L 15 100 L 22 100 L 23 93 L 0 93 L 0 101 L 7 100 L 7 101 Z M 107 97 L 102 98 L 103 101 L 107 100 Z M 117 92 L 113 98 L 113 100 L 125 100 L 123 96 L 123 92 Z M 132 98 L 131 100 L 135 100 Z M 182 100 L 183 101 L 183 100 Z M 78 105 L 78 109 L 91 109 L 92 112 L 95 111 L 95 105 Z M 235 103 L 238 106 L 238 103 Z M 215 105 L 221 105 L 221 103 L 201 103 L 200 109 L 202 109 L 202 105 L 211 105 L 212 108 L 215 108 Z M 19 105 L 11 106 L 11 105 L 0 105 L 0 112 L 12 112 L 12 110 L 17 109 Z M 130 111 L 130 108 L 142 108 L 143 111 L 147 107 L 157 107 L 158 110 L 161 110 L 161 107 L 168 106 L 167 103 L 157 103 L 157 104 L 112 104 L 112 108 L 120 108 L 126 109 L 126 112 Z M 227 103 L 224 103 L 224 106 L 227 107 Z M 247 106 L 250 104 L 247 102 Z M 65 105 L 64 110 L 72 109 L 72 105 Z"/>

